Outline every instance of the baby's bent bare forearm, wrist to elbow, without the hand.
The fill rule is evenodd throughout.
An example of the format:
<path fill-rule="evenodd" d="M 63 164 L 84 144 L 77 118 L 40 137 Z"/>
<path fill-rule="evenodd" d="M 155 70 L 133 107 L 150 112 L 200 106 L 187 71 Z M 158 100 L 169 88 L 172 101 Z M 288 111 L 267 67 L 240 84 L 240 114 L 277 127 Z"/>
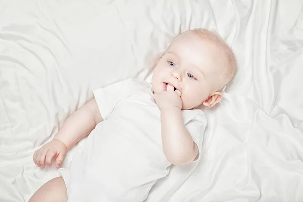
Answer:
<path fill-rule="evenodd" d="M 170 163 L 184 165 L 195 159 L 198 148 L 184 126 L 180 108 L 161 110 L 161 130 L 164 154 Z"/>

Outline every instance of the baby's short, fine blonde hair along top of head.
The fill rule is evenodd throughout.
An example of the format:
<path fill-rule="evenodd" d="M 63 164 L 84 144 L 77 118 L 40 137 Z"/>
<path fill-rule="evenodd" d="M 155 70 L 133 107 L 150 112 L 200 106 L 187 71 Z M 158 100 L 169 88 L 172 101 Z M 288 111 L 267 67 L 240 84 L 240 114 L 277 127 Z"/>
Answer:
<path fill-rule="evenodd" d="M 232 49 L 226 44 L 224 39 L 215 31 L 210 31 L 208 29 L 203 29 L 203 28 L 196 28 L 196 29 L 191 29 L 188 32 L 192 32 L 193 34 L 196 34 L 198 37 L 207 39 L 210 42 L 215 43 L 224 51 L 228 65 L 227 67 L 223 68 L 224 71 L 223 71 L 222 79 L 221 82 L 219 82 L 219 86 L 218 86 L 218 90 L 222 90 L 226 86 L 226 84 L 228 84 L 232 80 L 237 70 L 237 63 Z"/>

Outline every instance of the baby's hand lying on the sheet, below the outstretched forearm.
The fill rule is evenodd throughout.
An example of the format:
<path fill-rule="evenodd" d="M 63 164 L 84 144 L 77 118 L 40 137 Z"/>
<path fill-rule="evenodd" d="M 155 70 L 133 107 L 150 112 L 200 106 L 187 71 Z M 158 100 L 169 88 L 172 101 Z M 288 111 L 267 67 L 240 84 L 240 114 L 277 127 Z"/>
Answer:
<path fill-rule="evenodd" d="M 58 140 L 52 140 L 35 151 L 33 160 L 38 167 L 44 168 L 45 163 L 49 167 L 52 166 L 52 159 L 55 158 L 55 166 L 56 168 L 59 168 L 66 152 L 67 147 L 64 143 Z"/>

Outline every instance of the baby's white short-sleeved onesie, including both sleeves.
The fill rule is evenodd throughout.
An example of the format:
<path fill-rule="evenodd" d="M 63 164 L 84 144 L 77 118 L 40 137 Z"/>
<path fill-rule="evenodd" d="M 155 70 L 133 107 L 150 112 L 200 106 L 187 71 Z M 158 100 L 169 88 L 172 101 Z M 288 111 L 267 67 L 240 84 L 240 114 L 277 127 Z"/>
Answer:
<path fill-rule="evenodd" d="M 94 90 L 94 96 L 104 121 L 69 166 L 59 170 L 68 201 L 143 201 L 171 165 L 163 153 L 160 110 L 150 84 L 127 79 Z M 184 110 L 182 115 L 201 151 L 207 124 L 203 111 Z"/>

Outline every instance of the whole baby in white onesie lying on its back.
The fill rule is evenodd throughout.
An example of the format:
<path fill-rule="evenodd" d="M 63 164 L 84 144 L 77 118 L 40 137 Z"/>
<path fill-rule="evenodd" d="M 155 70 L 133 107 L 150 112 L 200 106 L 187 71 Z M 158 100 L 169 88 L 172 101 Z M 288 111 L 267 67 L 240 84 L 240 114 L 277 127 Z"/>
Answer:
<path fill-rule="evenodd" d="M 68 149 L 90 133 L 67 168 L 29 201 L 143 201 L 170 165 L 200 158 L 206 117 L 220 102 L 236 61 L 215 33 L 178 35 L 155 64 L 151 84 L 127 79 L 95 90 L 54 139 L 38 149 L 39 167 L 59 168 Z"/>

